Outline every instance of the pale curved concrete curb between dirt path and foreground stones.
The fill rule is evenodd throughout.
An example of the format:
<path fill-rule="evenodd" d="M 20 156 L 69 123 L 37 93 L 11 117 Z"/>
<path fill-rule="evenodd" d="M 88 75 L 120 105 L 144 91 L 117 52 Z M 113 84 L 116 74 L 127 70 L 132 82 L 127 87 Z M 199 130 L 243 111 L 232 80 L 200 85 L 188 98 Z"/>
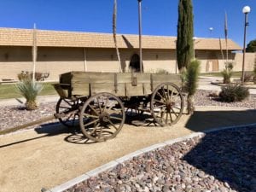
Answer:
<path fill-rule="evenodd" d="M 108 162 L 107 164 L 99 166 L 96 169 L 91 170 L 90 172 L 85 172 L 83 175 L 80 175 L 79 177 L 75 177 L 72 180 L 69 180 L 67 183 L 63 183 L 61 185 L 58 185 L 53 189 L 46 190 L 45 192 L 61 192 L 61 191 L 64 191 L 66 189 L 69 189 L 69 188 L 73 187 L 73 185 L 75 185 L 77 183 L 83 182 L 84 180 L 86 180 L 90 177 L 94 177 L 94 176 L 98 175 L 101 172 L 106 172 L 109 169 L 113 168 L 114 166 L 117 166 L 121 163 L 124 163 L 126 160 L 131 160 L 133 157 L 136 157 L 140 154 L 144 154 L 144 153 L 153 151 L 157 148 L 163 148 L 167 145 L 172 145 L 173 143 L 183 142 L 183 141 L 188 140 L 188 139 L 193 138 L 193 137 L 204 137 L 207 133 L 211 133 L 211 132 L 214 132 L 214 131 L 224 131 L 224 130 L 229 130 L 229 129 L 234 129 L 234 128 L 242 129 L 242 128 L 245 128 L 245 127 L 248 127 L 248 126 L 256 126 L 256 123 L 247 124 L 247 125 L 233 125 L 233 126 L 217 127 L 217 128 L 213 128 L 213 129 L 208 130 L 208 131 L 194 132 L 194 133 L 189 134 L 188 136 L 185 136 L 185 137 L 178 137 L 178 138 L 171 139 L 171 140 L 168 140 L 168 141 L 163 142 L 163 143 L 157 143 L 157 144 L 154 144 L 154 145 L 149 146 L 147 148 L 139 149 L 139 150 L 137 150 L 137 151 L 135 151 L 131 154 L 126 154 L 125 156 L 120 157 L 117 160 L 112 160 L 112 161 Z"/>

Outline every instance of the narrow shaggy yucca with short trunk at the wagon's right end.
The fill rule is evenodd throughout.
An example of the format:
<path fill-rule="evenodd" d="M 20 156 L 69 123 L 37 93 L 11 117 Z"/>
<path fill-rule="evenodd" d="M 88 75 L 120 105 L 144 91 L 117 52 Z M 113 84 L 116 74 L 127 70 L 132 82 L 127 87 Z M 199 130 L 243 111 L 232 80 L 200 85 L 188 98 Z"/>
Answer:
<path fill-rule="evenodd" d="M 187 108 L 189 114 L 195 111 L 194 95 L 198 86 L 199 67 L 200 61 L 193 60 L 189 63 L 187 71 L 185 72 L 185 90 L 188 92 Z"/>

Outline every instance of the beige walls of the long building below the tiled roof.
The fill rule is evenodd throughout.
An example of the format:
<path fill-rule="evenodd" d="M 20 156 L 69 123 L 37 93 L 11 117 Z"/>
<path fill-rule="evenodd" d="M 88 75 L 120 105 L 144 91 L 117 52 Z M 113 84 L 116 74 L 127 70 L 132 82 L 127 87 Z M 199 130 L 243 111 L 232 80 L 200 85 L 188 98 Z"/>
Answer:
<path fill-rule="evenodd" d="M 119 49 L 121 66 L 129 71 L 131 56 L 138 49 Z M 195 57 L 201 61 L 201 72 L 222 71 L 224 60 L 219 50 L 196 50 Z M 252 71 L 254 54 L 246 56 L 246 71 Z M 235 61 L 234 70 L 241 71 L 242 54 L 229 53 L 229 59 Z M 214 67 L 213 67 L 214 66 Z M 218 67 L 216 67 L 218 66 Z M 146 73 L 155 73 L 165 69 L 177 73 L 176 51 L 173 49 L 143 49 L 143 68 Z M 36 71 L 49 73 L 46 80 L 58 80 L 59 74 L 69 71 L 119 72 L 119 62 L 115 49 L 83 49 L 39 47 Z M 32 72 L 31 47 L 0 47 L 0 79 L 17 79 L 21 71 Z"/>

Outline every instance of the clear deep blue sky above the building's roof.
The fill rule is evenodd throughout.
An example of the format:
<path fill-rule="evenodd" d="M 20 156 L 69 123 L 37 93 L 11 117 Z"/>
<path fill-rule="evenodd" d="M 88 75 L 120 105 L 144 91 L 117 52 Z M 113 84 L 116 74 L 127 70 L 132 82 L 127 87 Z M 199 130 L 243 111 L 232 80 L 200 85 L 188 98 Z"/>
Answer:
<path fill-rule="evenodd" d="M 178 0 L 143 0 L 143 34 L 176 36 Z M 229 38 L 242 45 L 248 5 L 247 43 L 256 38 L 256 0 L 193 0 L 195 37 L 224 38 L 224 12 Z M 0 27 L 112 32 L 113 0 L 0 0 Z M 137 0 L 118 0 L 117 32 L 138 33 Z M 210 32 L 209 28 L 213 30 Z"/>

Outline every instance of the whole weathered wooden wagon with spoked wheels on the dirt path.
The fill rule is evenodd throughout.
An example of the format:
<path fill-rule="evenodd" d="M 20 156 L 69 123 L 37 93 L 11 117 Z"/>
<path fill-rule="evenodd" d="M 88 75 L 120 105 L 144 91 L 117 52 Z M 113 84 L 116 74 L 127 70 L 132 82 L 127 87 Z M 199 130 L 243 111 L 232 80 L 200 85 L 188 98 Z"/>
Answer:
<path fill-rule="evenodd" d="M 60 75 L 56 113 L 63 125 L 79 122 L 85 137 L 102 142 L 115 137 L 125 113 L 151 113 L 159 125 L 173 125 L 183 113 L 177 74 L 70 72 Z"/>

